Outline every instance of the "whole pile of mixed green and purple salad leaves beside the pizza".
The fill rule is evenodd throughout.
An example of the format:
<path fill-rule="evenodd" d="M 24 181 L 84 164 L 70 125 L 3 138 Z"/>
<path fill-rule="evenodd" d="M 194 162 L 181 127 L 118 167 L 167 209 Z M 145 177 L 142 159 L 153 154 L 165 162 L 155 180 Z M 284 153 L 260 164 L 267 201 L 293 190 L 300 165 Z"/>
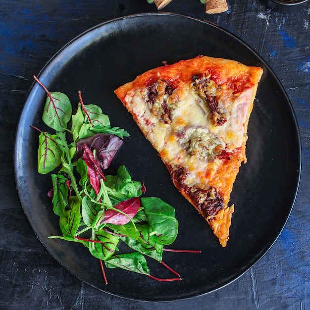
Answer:
<path fill-rule="evenodd" d="M 31 126 L 40 132 L 38 172 L 52 173 L 48 197 L 54 213 L 59 216 L 62 233 L 49 238 L 81 243 L 88 248 L 100 261 L 105 284 L 103 264 L 145 274 L 158 281 L 181 280 L 180 275 L 162 261 L 163 251 L 200 251 L 164 249 L 173 243 L 178 233 L 174 208 L 159 198 L 140 198 L 146 191 L 145 184 L 132 180 L 125 165 L 118 168 L 116 175 L 103 172 L 121 147 L 122 139 L 129 136 L 128 132 L 111 127 L 109 117 L 98 105 L 85 105 L 81 92 L 77 111 L 72 114 L 65 94 L 50 93 L 34 78 L 47 92 L 42 119 L 54 130 L 50 134 Z M 59 171 L 54 173 L 56 168 Z M 133 252 L 121 253 L 120 242 Z M 151 275 L 145 256 L 155 259 L 177 277 L 161 279 Z"/>

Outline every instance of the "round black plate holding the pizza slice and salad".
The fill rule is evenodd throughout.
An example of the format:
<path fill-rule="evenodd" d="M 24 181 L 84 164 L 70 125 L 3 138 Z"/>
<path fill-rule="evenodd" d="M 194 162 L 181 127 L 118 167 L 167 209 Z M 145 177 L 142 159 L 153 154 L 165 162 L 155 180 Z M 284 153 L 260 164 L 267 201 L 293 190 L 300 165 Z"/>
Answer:
<path fill-rule="evenodd" d="M 174 63 L 199 54 L 238 60 L 263 68 L 249 124 L 248 162 L 237 177 L 230 239 L 222 248 L 206 221 L 179 194 L 151 144 L 143 137 L 113 91 L 162 61 Z M 170 247 L 201 250 L 201 254 L 167 253 L 163 261 L 182 281 L 157 282 L 121 269 L 107 269 L 103 284 L 100 265 L 80 244 L 47 239 L 59 234 L 47 191 L 50 177 L 37 173 L 38 133 L 46 94 L 34 84 L 23 107 L 15 142 L 15 176 L 24 212 L 35 234 L 52 256 L 82 281 L 109 294 L 134 300 L 167 301 L 189 298 L 235 280 L 261 258 L 281 233 L 295 201 L 301 166 L 300 137 L 291 103 L 267 63 L 227 31 L 191 17 L 151 13 L 103 23 L 70 42 L 39 75 L 50 91 L 66 93 L 78 103 L 95 103 L 113 126 L 130 133 L 112 162 L 125 164 L 133 179 L 143 180 L 147 196 L 160 197 L 176 208 L 178 237 Z M 151 274 L 171 277 L 150 261 Z"/>

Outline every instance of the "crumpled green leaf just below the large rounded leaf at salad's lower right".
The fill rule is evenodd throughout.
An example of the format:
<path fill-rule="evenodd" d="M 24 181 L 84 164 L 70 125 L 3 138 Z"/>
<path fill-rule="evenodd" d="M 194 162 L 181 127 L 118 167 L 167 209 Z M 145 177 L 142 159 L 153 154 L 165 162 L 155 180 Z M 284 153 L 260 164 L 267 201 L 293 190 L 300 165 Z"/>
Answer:
<path fill-rule="evenodd" d="M 122 237 L 121 240 L 131 249 L 145 254 L 161 262 L 163 244 L 155 235 L 150 236 L 150 227 L 148 224 L 136 225 L 139 230 L 139 238 Z"/>

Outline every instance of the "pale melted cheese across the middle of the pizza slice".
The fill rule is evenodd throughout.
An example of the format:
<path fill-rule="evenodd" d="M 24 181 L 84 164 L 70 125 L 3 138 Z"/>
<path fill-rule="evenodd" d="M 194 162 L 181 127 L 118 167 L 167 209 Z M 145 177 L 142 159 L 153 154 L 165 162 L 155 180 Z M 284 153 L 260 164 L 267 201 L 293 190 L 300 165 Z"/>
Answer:
<path fill-rule="evenodd" d="M 145 88 L 129 92 L 126 104 L 164 162 L 172 167 L 182 164 L 188 169 L 186 185 L 201 183 L 201 176 L 196 172 L 205 171 L 208 162 L 214 161 L 223 150 L 231 152 L 242 146 L 253 88 L 226 98 L 223 108 L 227 121 L 221 126 L 212 124 L 206 104 L 189 83 L 173 92 L 174 99 L 168 106 L 171 123 L 164 123 L 158 113 L 154 115 L 152 106 L 145 101 L 145 92 Z M 214 164 L 209 167 L 209 173 L 216 173 Z"/>

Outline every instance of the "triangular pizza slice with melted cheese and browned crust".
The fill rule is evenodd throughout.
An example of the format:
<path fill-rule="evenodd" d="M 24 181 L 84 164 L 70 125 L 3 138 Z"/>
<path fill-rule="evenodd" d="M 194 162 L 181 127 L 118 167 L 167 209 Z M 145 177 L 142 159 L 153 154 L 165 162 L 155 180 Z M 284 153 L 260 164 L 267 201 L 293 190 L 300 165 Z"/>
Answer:
<path fill-rule="evenodd" d="M 247 128 L 262 69 L 197 56 L 149 70 L 115 90 L 180 193 L 225 247 L 230 194 L 246 162 Z"/>

